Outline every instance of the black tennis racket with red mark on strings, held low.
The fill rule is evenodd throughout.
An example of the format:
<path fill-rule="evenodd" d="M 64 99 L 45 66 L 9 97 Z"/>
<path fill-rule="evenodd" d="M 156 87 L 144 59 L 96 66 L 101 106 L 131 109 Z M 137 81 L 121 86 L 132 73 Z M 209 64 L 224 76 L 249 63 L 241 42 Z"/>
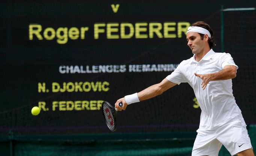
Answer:
<path fill-rule="evenodd" d="M 118 105 L 119 105 L 119 107 L 123 107 L 122 102 L 120 102 Z M 104 101 L 101 104 L 101 110 L 102 110 L 102 114 L 105 119 L 105 122 L 106 122 L 108 128 L 110 129 L 110 131 L 112 131 L 112 132 L 116 131 L 117 109 L 114 108 L 114 106 L 111 105 L 110 103 L 108 103 L 107 101 Z"/>

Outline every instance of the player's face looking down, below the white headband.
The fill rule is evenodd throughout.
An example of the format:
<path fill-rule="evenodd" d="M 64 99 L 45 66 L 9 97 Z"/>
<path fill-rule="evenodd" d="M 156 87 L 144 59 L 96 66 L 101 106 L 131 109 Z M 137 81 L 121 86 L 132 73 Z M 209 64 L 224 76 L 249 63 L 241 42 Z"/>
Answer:
<path fill-rule="evenodd" d="M 188 41 L 187 45 L 192 50 L 192 53 L 198 54 L 203 52 L 203 49 L 205 47 L 205 42 L 204 40 L 201 39 L 199 33 L 195 33 L 195 32 L 187 33 L 187 41 Z"/>

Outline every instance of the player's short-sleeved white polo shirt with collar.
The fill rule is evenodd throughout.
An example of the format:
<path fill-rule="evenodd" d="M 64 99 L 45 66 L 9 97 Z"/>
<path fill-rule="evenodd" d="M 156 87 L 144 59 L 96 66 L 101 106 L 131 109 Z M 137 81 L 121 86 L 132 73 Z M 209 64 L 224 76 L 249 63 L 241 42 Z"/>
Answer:
<path fill-rule="evenodd" d="M 233 97 L 231 79 L 210 81 L 203 90 L 202 79 L 194 75 L 216 73 L 226 65 L 234 65 L 238 69 L 229 53 L 215 53 L 211 49 L 199 62 L 195 60 L 195 55 L 182 61 L 176 70 L 166 77 L 178 85 L 187 82 L 194 89 L 202 110 L 199 128 L 214 128 L 241 114 Z"/>

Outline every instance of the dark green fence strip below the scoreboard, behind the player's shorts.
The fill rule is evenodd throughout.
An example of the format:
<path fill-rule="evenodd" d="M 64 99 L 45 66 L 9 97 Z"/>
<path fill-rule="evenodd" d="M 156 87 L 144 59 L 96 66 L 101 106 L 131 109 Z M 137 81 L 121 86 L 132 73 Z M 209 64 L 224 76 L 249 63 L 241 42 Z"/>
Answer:
<path fill-rule="evenodd" d="M 256 125 L 248 125 L 256 148 Z M 1 136 L 4 156 L 191 156 L 196 132 Z M 222 147 L 219 156 L 229 156 Z"/>

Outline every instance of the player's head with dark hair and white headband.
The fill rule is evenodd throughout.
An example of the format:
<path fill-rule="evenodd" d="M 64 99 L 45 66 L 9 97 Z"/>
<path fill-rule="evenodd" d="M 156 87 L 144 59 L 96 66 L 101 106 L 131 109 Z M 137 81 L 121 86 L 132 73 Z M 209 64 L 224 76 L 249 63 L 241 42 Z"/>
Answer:
<path fill-rule="evenodd" d="M 212 28 L 205 22 L 199 21 L 188 27 L 188 46 L 193 53 L 200 53 L 203 49 L 213 48 L 215 41 Z"/>

